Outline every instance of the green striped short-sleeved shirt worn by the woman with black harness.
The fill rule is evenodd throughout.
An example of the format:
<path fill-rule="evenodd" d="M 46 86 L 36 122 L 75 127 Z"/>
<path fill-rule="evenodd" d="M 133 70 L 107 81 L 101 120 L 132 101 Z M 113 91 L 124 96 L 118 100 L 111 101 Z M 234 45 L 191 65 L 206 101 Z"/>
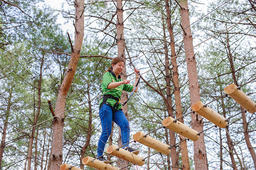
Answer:
<path fill-rule="evenodd" d="M 127 92 L 131 92 L 133 89 L 132 85 L 120 85 L 119 87 L 116 87 L 114 89 L 112 89 L 111 91 L 109 91 L 110 89 L 107 88 L 108 84 L 113 83 L 113 82 L 120 82 L 123 81 L 123 79 L 121 79 L 120 75 L 118 76 L 118 79 L 116 78 L 116 75 L 113 71 L 111 72 L 106 72 L 103 75 L 103 81 L 101 83 L 101 87 L 102 87 L 102 93 L 104 93 L 103 95 L 107 95 L 110 94 L 113 97 L 118 97 L 119 99 L 121 99 L 121 94 L 122 91 L 127 91 Z M 109 91 L 109 92 L 107 92 Z M 105 93 L 106 92 L 106 93 Z M 103 99 L 100 100 L 100 104 L 102 103 Z M 107 102 L 111 105 L 114 106 L 114 104 L 116 103 L 116 100 L 114 99 L 108 99 Z M 122 105 L 119 104 L 118 109 L 121 109 Z"/>

